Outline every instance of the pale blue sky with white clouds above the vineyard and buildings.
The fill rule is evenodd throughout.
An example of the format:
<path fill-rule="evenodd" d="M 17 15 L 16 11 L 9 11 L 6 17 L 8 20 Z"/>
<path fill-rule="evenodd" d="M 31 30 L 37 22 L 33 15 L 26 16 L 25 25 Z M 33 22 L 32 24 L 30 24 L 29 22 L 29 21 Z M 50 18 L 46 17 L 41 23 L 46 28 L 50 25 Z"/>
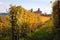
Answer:
<path fill-rule="evenodd" d="M 52 12 L 52 3 L 54 0 L 0 0 L 0 13 L 8 12 L 10 4 L 21 5 L 23 8 L 30 10 L 33 8 L 36 11 L 38 8 L 43 13 L 51 14 Z"/>

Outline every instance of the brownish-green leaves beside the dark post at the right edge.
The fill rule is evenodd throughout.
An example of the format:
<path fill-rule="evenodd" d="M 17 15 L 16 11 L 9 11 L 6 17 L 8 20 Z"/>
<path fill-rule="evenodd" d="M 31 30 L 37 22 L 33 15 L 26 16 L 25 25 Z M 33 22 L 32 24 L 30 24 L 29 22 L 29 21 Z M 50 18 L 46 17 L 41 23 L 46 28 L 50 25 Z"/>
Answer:
<path fill-rule="evenodd" d="M 53 22 L 54 26 L 58 27 L 58 1 L 55 1 L 53 4 Z"/>

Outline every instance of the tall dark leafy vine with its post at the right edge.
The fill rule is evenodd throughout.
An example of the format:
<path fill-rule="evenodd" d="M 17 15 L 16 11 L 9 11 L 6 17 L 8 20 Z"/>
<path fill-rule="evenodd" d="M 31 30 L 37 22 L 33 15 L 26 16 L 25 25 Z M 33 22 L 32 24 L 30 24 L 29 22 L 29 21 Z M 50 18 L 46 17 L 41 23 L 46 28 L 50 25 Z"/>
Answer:
<path fill-rule="evenodd" d="M 60 1 L 55 0 L 53 4 L 53 21 L 54 21 L 54 26 L 57 29 L 57 35 L 58 39 L 60 37 Z"/>

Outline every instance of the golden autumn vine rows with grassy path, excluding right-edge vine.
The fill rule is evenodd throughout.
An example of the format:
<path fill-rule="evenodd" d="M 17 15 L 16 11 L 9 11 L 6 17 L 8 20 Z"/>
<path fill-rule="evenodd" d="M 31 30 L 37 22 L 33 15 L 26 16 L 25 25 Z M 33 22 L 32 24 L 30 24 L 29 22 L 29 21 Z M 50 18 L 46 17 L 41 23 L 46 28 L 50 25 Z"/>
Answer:
<path fill-rule="evenodd" d="M 54 39 L 56 29 L 51 17 L 31 12 L 22 6 L 11 6 L 9 14 L 0 16 L 1 40 L 12 40 L 14 37 L 14 40 Z"/>

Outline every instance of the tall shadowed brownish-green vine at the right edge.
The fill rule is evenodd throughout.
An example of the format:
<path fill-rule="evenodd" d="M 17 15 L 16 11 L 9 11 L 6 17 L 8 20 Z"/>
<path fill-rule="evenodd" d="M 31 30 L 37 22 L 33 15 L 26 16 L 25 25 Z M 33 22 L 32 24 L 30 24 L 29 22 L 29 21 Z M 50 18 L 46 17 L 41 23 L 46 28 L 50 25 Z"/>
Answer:
<path fill-rule="evenodd" d="M 60 13 L 59 13 L 59 2 L 58 1 L 55 1 L 54 4 L 53 4 L 53 19 L 54 19 L 54 25 L 55 27 L 57 28 L 60 28 L 59 27 L 59 24 L 60 24 Z"/>

